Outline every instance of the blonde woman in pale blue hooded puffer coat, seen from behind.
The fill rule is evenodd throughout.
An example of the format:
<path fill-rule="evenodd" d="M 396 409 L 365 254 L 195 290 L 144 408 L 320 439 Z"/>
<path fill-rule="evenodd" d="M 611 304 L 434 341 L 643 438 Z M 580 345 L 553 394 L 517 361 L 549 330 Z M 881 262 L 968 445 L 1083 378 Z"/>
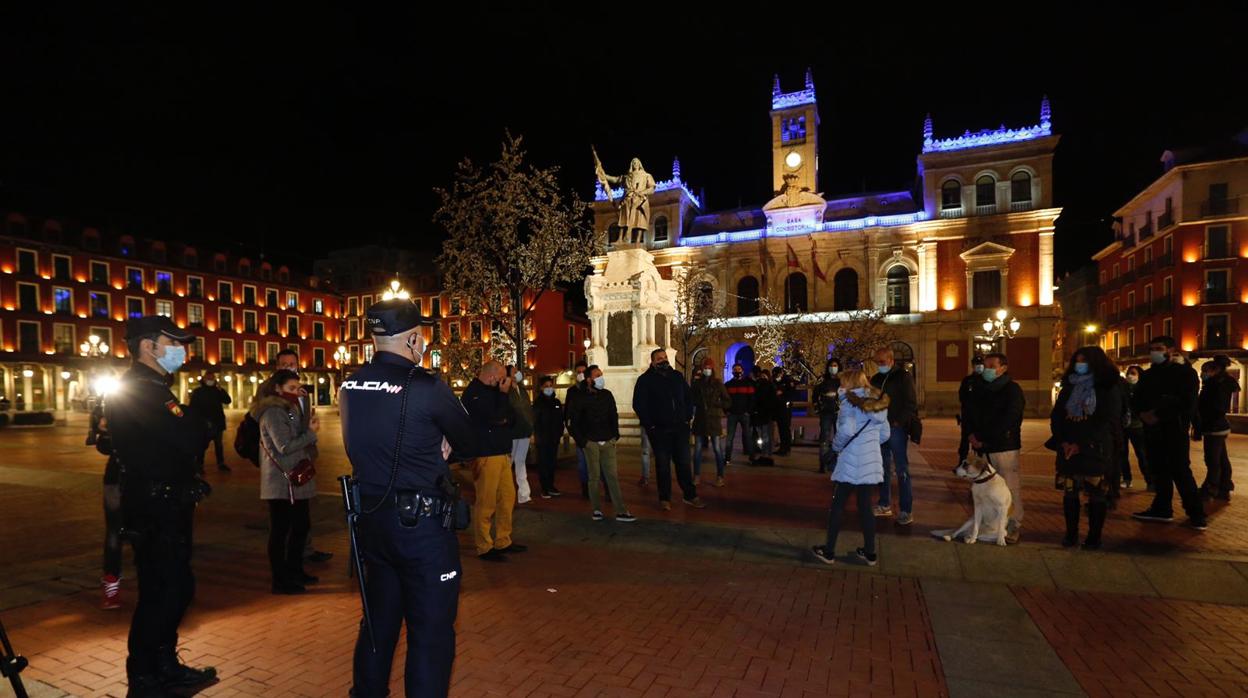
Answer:
<path fill-rule="evenodd" d="M 840 413 L 832 451 L 837 453 L 832 471 L 832 508 L 827 513 L 827 542 L 810 551 L 825 563 L 836 562 L 836 536 L 841 514 L 850 493 L 857 492 L 859 521 L 862 524 L 862 547 L 855 551 L 859 559 L 875 566 L 875 513 L 871 496 L 884 482 L 884 456 L 880 446 L 889 442 L 889 396 L 881 396 L 859 370 L 845 371 L 839 388 Z"/>

